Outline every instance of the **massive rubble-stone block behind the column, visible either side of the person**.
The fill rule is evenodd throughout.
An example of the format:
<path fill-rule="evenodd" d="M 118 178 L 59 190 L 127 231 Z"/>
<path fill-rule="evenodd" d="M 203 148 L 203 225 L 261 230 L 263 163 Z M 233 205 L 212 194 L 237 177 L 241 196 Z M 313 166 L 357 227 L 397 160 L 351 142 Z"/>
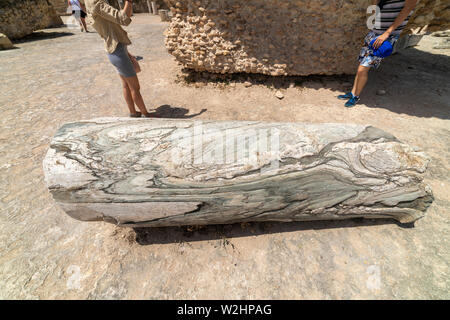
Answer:
<path fill-rule="evenodd" d="M 422 0 L 414 27 L 449 25 L 448 1 Z M 214 73 L 353 74 L 372 0 L 166 0 L 166 47 Z M 444 4 L 446 3 L 446 4 Z M 447 6 L 447 10 L 445 10 Z M 442 30 L 442 29 L 441 29 Z"/>

